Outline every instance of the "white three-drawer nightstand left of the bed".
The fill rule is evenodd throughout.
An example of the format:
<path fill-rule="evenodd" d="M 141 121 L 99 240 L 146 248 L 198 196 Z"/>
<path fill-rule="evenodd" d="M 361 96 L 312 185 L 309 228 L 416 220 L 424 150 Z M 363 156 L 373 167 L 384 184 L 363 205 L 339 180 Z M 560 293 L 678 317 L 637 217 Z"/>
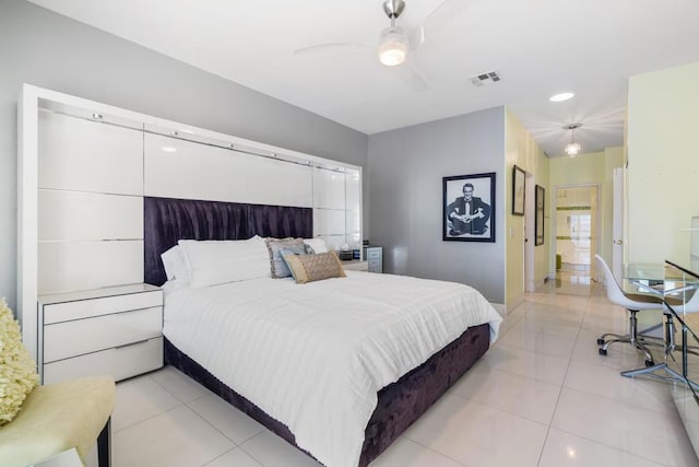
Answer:
<path fill-rule="evenodd" d="M 44 384 L 100 374 L 125 380 L 163 366 L 163 291 L 149 284 L 40 295 Z"/>

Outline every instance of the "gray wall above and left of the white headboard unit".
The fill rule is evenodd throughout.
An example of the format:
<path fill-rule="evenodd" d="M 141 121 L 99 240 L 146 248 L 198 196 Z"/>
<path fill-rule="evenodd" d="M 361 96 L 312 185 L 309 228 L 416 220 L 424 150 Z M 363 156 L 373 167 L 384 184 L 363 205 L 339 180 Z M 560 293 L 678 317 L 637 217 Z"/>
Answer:
<path fill-rule="evenodd" d="M 25 1 L 0 0 L 0 296 L 12 307 L 24 82 L 367 170 L 362 132 Z"/>

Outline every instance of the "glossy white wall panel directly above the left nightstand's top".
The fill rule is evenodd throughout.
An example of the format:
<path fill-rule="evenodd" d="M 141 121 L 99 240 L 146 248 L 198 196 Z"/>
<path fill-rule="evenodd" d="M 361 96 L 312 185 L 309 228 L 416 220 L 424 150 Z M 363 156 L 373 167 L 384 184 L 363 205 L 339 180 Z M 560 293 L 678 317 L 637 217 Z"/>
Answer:
<path fill-rule="evenodd" d="M 143 241 L 39 242 L 39 294 L 143 281 Z"/>

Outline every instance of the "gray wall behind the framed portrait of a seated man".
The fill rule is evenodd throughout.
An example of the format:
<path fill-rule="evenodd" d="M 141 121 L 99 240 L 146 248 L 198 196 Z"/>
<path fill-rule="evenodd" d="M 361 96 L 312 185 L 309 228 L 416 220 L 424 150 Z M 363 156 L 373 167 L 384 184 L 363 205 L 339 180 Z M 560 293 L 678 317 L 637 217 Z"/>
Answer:
<path fill-rule="evenodd" d="M 386 272 L 462 282 L 505 303 L 505 107 L 369 137 L 371 244 Z M 442 177 L 496 173 L 496 242 L 443 242 Z M 477 196 L 477 194 L 476 194 Z"/>

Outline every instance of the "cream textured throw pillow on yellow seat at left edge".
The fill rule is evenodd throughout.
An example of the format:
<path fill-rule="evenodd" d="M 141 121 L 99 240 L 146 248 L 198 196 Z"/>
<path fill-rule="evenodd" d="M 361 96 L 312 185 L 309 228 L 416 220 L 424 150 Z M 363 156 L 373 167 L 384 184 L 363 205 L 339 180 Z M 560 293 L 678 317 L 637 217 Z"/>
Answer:
<path fill-rule="evenodd" d="M 0 427 L 12 421 L 38 382 L 36 364 L 22 345 L 20 325 L 0 299 Z"/>

